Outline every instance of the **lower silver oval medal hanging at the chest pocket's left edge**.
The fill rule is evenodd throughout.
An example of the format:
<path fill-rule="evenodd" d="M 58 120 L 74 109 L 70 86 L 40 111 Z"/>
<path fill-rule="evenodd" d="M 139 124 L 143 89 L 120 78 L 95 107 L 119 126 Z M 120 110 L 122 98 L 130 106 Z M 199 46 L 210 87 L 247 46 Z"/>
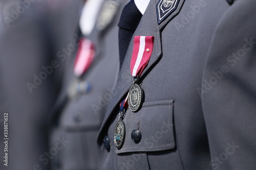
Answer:
<path fill-rule="evenodd" d="M 125 126 L 122 120 L 118 120 L 115 128 L 114 142 L 117 149 L 122 148 L 125 137 Z"/>

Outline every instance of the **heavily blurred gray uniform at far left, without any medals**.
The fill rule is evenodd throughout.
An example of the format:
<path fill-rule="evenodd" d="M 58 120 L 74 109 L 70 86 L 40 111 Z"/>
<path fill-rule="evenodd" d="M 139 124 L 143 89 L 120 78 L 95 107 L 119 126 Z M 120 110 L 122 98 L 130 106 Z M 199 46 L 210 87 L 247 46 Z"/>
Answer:
<path fill-rule="evenodd" d="M 8 112 L 9 141 L 6 166 L 1 121 L 0 169 L 49 169 L 47 117 L 66 60 L 57 53 L 72 42 L 83 2 L 50 3 L 1 1 L 0 119 Z"/>

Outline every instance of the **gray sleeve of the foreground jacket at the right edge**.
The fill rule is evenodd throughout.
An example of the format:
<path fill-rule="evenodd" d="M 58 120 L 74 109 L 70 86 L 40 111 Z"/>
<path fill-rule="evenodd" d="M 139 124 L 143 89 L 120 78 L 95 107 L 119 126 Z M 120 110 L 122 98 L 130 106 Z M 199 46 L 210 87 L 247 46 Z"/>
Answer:
<path fill-rule="evenodd" d="M 220 19 L 202 79 L 212 169 L 256 167 L 256 1 L 237 0 Z"/>

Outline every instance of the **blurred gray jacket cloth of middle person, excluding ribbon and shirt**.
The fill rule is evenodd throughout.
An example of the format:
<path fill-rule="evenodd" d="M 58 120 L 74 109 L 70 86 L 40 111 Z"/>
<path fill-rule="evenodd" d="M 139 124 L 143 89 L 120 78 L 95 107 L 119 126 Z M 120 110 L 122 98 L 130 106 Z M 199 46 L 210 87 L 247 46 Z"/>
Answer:
<path fill-rule="evenodd" d="M 66 143 L 52 157 L 51 169 L 97 169 L 96 138 L 119 70 L 117 21 L 125 3 L 103 1 L 96 25 L 86 36 L 94 43 L 95 59 L 80 79 L 88 81 L 92 88 L 88 93 L 77 94 L 73 98 L 67 95 L 74 81 L 77 50 L 70 56 L 62 93 L 52 113 L 50 148 L 55 148 L 59 139 Z M 74 37 L 76 41 L 78 36 Z"/>

